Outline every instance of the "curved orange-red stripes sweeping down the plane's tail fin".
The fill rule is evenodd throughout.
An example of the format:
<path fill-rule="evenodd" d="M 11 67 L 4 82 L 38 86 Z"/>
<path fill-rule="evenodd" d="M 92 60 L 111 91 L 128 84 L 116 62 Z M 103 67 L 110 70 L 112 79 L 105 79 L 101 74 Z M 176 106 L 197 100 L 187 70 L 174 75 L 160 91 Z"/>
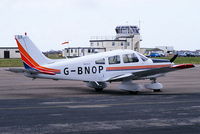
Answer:
<path fill-rule="evenodd" d="M 18 48 L 20 50 L 20 54 L 22 57 L 22 60 L 30 67 L 32 67 L 33 69 L 39 70 L 43 73 L 60 73 L 59 69 L 51 69 L 51 68 L 46 68 L 43 66 L 40 66 L 35 60 L 33 60 L 31 58 L 31 56 L 26 52 L 26 50 L 22 47 L 22 45 L 20 44 L 20 42 L 16 39 Z"/>

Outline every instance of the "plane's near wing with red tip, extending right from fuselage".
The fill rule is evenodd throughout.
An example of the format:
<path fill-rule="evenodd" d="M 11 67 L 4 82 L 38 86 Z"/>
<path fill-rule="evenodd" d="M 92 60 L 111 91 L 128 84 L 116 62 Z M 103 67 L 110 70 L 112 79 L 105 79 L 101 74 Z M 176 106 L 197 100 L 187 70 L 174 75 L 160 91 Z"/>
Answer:
<path fill-rule="evenodd" d="M 109 79 L 108 81 L 109 82 L 122 81 L 124 79 L 132 79 L 132 80 L 149 79 L 149 78 L 163 76 L 165 73 L 168 73 L 171 71 L 177 71 L 177 70 L 193 68 L 193 67 L 195 67 L 193 64 L 180 64 L 180 65 L 174 65 L 172 67 L 153 68 L 153 69 L 147 69 L 147 70 L 143 70 L 139 72 L 119 75 L 119 76 Z"/>

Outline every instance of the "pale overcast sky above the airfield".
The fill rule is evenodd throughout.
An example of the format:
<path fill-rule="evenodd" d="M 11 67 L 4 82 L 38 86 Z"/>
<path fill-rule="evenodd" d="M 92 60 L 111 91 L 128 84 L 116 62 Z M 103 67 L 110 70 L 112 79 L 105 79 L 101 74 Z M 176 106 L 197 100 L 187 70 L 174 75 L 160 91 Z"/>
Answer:
<path fill-rule="evenodd" d="M 42 51 L 89 46 L 139 20 L 141 47 L 200 49 L 200 0 L 0 0 L 0 47 L 25 32 Z"/>

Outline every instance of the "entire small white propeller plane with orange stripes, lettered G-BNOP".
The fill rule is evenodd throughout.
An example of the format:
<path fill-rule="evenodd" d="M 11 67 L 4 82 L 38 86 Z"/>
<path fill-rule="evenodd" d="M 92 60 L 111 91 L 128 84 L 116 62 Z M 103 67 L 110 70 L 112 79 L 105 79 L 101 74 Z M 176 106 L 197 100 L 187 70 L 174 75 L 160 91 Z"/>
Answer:
<path fill-rule="evenodd" d="M 88 87 L 102 91 L 109 82 L 121 81 L 119 88 L 138 92 L 140 84 L 133 80 L 150 79 L 144 87 L 153 91 L 163 88 L 156 82 L 158 77 L 167 72 L 194 67 L 193 64 L 174 65 L 175 55 L 171 60 L 150 59 L 133 50 L 114 50 L 72 59 L 49 59 L 34 45 L 26 35 L 15 36 L 25 69 L 9 69 L 23 72 L 30 78 L 53 80 L 79 80 Z"/>

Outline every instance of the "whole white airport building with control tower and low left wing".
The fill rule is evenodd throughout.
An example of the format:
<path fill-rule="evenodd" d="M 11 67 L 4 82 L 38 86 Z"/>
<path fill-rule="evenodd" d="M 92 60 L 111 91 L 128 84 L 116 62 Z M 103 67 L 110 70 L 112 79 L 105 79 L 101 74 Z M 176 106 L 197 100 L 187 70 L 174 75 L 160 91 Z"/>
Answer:
<path fill-rule="evenodd" d="M 90 39 L 90 47 L 67 47 L 63 50 L 64 57 L 79 57 L 98 52 L 116 49 L 131 49 L 140 52 L 140 33 L 137 26 L 117 26 L 116 36 L 94 36 Z"/>

